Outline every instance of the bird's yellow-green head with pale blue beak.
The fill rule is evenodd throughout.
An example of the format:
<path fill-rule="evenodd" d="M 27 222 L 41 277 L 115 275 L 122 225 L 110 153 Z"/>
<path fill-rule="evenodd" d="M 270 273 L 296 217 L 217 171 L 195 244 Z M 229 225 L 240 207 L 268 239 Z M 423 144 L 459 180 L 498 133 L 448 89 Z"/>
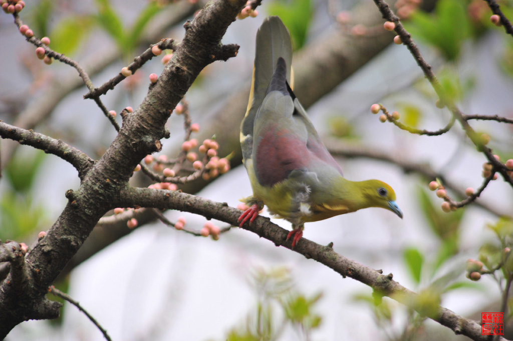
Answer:
<path fill-rule="evenodd" d="M 366 180 L 358 184 L 367 207 L 385 208 L 403 217 L 403 212 L 396 204 L 396 192 L 389 185 L 380 180 Z"/>

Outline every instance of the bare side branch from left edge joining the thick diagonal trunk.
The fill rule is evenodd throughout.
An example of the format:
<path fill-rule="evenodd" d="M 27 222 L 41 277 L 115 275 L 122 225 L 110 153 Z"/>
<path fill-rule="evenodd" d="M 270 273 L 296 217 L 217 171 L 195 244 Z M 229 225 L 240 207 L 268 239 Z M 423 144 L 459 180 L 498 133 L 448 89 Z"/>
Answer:
<path fill-rule="evenodd" d="M 71 147 L 60 139 L 57 140 L 32 130 L 11 126 L 2 121 L 0 121 L 0 137 L 10 138 L 21 145 L 32 146 L 45 151 L 45 153 L 61 157 L 76 168 L 81 180 L 94 164 L 94 160 L 86 153 Z"/>

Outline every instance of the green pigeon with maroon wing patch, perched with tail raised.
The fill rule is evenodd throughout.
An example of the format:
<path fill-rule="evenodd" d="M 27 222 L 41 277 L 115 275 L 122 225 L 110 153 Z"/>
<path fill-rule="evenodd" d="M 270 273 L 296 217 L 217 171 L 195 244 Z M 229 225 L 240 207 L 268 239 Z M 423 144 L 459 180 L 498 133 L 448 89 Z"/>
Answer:
<path fill-rule="evenodd" d="M 253 195 L 239 217 L 249 224 L 267 206 L 292 224 L 293 249 L 304 224 L 368 207 L 400 218 L 396 193 L 380 180 L 351 181 L 328 152 L 294 95 L 290 33 L 278 16 L 264 19 L 257 32 L 251 90 L 241 123 L 243 164 Z"/>

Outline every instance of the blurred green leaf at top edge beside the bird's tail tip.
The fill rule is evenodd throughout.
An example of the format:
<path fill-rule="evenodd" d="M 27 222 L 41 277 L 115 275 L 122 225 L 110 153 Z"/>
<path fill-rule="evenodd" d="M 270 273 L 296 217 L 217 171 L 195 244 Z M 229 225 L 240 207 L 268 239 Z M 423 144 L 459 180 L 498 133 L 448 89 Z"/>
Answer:
<path fill-rule="evenodd" d="M 288 28 L 294 50 L 303 47 L 313 13 L 310 0 L 273 2 L 267 8 L 270 15 L 278 15 Z"/>

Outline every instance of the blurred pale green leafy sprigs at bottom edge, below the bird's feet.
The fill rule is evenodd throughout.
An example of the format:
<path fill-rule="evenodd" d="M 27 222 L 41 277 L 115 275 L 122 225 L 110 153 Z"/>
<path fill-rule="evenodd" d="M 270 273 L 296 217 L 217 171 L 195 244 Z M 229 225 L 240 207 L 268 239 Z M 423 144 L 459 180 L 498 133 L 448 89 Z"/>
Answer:
<path fill-rule="evenodd" d="M 322 297 L 317 293 L 308 297 L 295 289 L 290 271 L 286 268 L 271 270 L 255 269 L 250 285 L 257 293 L 255 311 L 246 318 L 244 326 L 228 332 L 228 341 L 266 341 L 289 339 L 284 335 L 292 328 L 305 339 L 322 323 L 322 317 L 314 312 Z"/>

